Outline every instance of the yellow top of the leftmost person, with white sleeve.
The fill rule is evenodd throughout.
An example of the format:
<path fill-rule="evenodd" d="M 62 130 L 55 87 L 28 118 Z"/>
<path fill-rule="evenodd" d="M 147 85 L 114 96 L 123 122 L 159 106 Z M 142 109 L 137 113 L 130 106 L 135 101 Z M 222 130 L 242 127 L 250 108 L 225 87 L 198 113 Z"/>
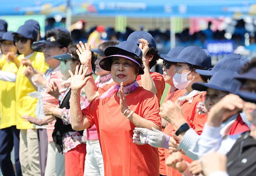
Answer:
<path fill-rule="evenodd" d="M 5 59 L 5 55 L 2 57 Z M 5 59 L 2 71 L 17 73 L 18 68 Z M 0 80 L 0 129 L 16 125 L 15 82 Z"/>

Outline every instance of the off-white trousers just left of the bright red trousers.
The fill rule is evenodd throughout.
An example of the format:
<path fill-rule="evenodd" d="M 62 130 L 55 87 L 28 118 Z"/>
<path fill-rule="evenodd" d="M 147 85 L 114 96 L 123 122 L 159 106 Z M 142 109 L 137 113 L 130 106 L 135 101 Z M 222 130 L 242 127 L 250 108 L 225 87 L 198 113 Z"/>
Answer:
<path fill-rule="evenodd" d="M 59 153 L 54 142 L 48 142 L 45 176 L 65 176 L 65 157 Z"/>

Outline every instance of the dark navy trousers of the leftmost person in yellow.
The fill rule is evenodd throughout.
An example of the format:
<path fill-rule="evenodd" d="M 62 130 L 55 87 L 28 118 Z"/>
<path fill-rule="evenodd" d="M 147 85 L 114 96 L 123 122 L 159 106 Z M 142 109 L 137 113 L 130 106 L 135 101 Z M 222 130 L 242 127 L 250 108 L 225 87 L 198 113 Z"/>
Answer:
<path fill-rule="evenodd" d="M 15 176 L 11 161 L 13 146 L 16 176 L 22 176 L 19 163 L 19 129 L 16 126 L 0 129 L 0 167 L 4 176 Z"/>

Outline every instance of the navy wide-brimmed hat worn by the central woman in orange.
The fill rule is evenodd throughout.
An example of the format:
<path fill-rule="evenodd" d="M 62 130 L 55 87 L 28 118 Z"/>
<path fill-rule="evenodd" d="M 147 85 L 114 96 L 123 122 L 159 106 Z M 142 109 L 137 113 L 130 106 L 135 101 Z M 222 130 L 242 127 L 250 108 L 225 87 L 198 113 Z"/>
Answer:
<path fill-rule="evenodd" d="M 103 70 L 111 71 L 112 58 L 117 56 L 132 60 L 139 66 L 139 74 L 144 74 L 142 65 L 135 59 L 135 57 L 142 59 L 142 51 L 134 42 L 123 41 L 116 46 L 109 46 L 105 49 L 104 55 L 107 57 L 101 59 L 99 63 Z"/>

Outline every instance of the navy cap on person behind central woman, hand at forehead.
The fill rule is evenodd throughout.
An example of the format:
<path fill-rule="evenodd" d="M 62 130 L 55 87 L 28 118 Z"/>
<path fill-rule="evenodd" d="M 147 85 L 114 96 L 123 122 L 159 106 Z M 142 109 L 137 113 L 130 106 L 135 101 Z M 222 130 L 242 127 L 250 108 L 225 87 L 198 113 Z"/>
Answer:
<path fill-rule="evenodd" d="M 127 41 L 133 42 L 133 43 L 139 45 L 140 38 L 147 40 L 147 42 L 149 43 L 149 47 L 154 47 L 156 49 L 156 41 L 155 41 L 154 37 L 152 37 L 152 35 L 150 33 L 145 32 L 145 31 L 134 31 L 133 33 L 131 33 L 128 36 Z"/>

